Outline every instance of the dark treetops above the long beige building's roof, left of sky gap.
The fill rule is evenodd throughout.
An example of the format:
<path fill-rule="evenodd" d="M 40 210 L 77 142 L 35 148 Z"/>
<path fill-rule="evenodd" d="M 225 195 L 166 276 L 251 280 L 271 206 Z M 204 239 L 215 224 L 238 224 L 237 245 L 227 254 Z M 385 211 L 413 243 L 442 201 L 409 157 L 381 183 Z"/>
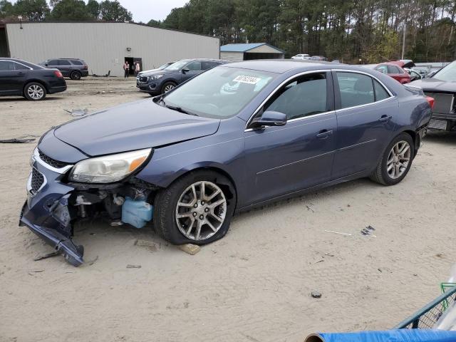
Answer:
<path fill-rule="evenodd" d="M 9 0 L 0 1 L 0 19 L 24 21 L 131 21 L 133 16 L 119 1 Z"/>

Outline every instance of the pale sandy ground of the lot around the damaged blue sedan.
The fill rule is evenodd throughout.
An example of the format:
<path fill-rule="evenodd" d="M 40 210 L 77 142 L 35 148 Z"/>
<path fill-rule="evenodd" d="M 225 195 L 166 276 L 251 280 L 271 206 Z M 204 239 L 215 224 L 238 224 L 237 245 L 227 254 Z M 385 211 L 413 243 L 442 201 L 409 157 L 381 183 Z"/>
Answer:
<path fill-rule="evenodd" d="M 41 135 L 71 119 L 63 109 L 140 98 L 133 79 L 100 78 L 40 103 L 0 98 L 0 138 Z M 0 145 L 1 342 L 303 341 L 390 328 L 439 294 L 456 261 L 456 135 L 430 135 L 400 185 L 358 180 L 241 214 L 195 256 L 150 229 L 83 224 L 79 268 L 33 261 L 51 248 L 17 226 L 34 146 Z M 375 237 L 360 234 L 368 225 Z"/>

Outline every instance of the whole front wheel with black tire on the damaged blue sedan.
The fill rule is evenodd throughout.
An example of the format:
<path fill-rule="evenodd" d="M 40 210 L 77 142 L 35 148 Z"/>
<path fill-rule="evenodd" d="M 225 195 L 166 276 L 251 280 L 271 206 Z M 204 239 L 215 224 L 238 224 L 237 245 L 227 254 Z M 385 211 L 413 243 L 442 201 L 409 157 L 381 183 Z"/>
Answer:
<path fill-rule="evenodd" d="M 200 201 L 201 183 L 204 183 L 207 202 Z M 192 186 L 195 192 L 192 191 Z M 209 199 L 216 192 L 216 188 L 221 192 L 215 195 L 214 199 Z M 192 194 L 195 194 L 196 198 Z M 223 199 L 224 204 L 217 204 Z M 172 244 L 202 245 L 214 242 L 227 234 L 236 207 L 236 199 L 236 191 L 227 177 L 211 170 L 190 172 L 155 196 L 153 217 L 155 232 Z M 178 205 L 178 202 L 181 204 Z M 197 207 L 192 204 L 194 202 Z M 182 206 L 184 203 L 185 206 Z M 216 207 L 209 209 L 213 205 Z M 214 214 L 217 214 L 219 219 L 215 219 Z M 222 221 L 220 221 L 221 217 Z"/>

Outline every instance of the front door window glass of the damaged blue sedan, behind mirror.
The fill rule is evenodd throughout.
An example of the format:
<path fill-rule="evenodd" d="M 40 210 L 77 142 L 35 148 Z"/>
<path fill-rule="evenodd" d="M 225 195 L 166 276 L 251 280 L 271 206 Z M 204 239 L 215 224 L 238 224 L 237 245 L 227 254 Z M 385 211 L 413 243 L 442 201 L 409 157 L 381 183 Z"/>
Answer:
<path fill-rule="evenodd" d="M 312 73 L 290 81 L 267 103 L 264 110 L 285 113 L 287 120 L 328 111 L 326 73 Z"/>

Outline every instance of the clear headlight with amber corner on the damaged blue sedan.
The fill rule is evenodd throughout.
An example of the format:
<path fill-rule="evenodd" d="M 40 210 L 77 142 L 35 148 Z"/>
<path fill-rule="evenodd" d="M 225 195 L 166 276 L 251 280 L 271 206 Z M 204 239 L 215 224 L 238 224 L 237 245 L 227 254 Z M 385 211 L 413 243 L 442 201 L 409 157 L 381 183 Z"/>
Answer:
<path fill-rule="evenodd" d="M 152 149 L 105 155 L 81 160 L 74 165 L 69 180 L 85 183 L 111 183 L 123 180 L 140 167 Z"/>

